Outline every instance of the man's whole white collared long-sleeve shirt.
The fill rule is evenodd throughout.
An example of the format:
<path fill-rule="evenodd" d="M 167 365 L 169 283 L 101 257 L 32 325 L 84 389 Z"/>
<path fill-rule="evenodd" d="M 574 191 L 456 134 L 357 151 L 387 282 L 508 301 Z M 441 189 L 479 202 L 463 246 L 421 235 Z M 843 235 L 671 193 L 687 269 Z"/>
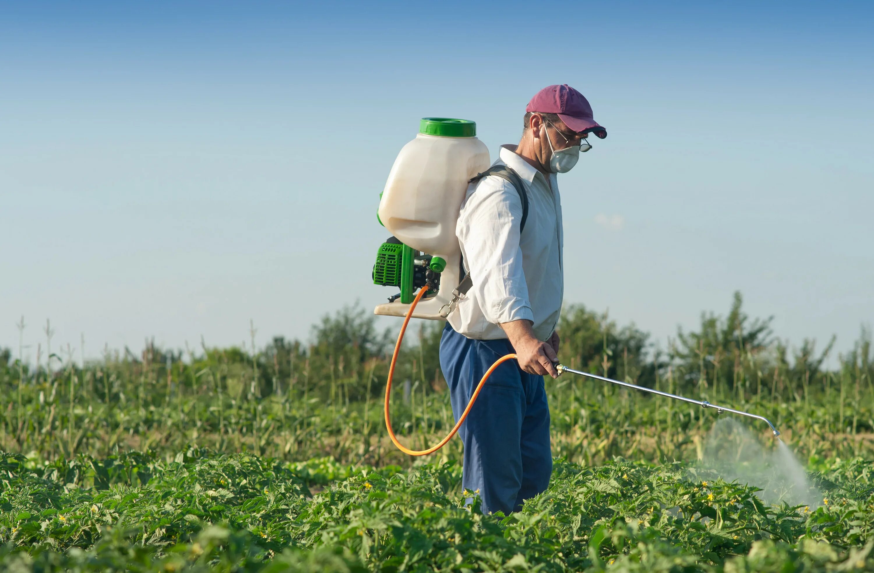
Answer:
<path fill-rule="evenodd" d="M 468 185 L 455 228 L 473 286 L 448 321 L 468 338 L 506 338 L 500 322 L 527 319 L 534 323 L 534 335 L 545 341 L 561 312 L 564 232 L 558 183 L 554 174 L 547 181 L 515 149 L 503 145 L 496 164 L 515 170 L 525 184 L 528 218 L 521 237 L 522 198 L 497 176 Z"/>

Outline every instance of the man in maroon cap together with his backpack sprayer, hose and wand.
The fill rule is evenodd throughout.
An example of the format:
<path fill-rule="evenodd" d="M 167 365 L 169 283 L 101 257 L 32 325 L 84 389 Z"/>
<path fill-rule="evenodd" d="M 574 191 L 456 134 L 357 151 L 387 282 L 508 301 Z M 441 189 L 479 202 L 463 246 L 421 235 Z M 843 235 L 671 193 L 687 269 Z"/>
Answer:
<path fill-rule="evenodd" d="M 436 452 L 458 433 L 462 486 L 486 512 L 518 510 L 549 485 L 552 458 L 543 376 L 564 372 L 765 422 L 751 412 L 622 382 L 558 363 L 555 332 L 564 293 L 558 173 L 607 137 L 592 107 L 566 84 L 528 103 L 518 145 L 489 166 L 475 121 L 426 117 L 401 149 L 380 195 L 378 221 L 394 235 L 379 246 L 375 284 L 400 292 L 376 314 L 403 316 L 385 381 L 385 428 L 401 452 Z M 418 292 L 417 292 L 418 289 Z M 411 318 L 447 321 L 440 367 L 455 425 L 413 450 L 392 430 L 392 378 Z"/>

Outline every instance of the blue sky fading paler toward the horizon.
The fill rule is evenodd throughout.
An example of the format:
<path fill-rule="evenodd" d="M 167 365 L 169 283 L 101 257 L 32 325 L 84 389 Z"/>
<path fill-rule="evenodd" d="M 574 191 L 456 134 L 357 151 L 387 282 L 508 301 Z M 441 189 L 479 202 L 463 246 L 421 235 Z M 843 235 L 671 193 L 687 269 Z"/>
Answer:
<path fill-rule="evenodd" d="M 89 356 L 250 319 L 306 339 L 391 294 L 375 211 L 420 117 L 475 120 L 494 158 L 567 83 L 609 136 L 559 177 L 565 303 L 663 342 L 740 290 L 848 349 L 874 322 L 872 6 L 4 2 L 0 346 L 22 315 L 31 358 L 46 318 Z"/>

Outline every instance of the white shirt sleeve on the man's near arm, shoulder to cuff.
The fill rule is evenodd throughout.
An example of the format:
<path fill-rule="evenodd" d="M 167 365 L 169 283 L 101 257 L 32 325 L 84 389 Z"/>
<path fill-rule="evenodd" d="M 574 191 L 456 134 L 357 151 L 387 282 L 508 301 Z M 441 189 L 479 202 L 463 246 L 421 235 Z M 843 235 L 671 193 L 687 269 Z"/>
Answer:
<path fill-rule="evenodd" d="M 500 177 L 484 178 L 470 192 L 455 234 L 485 319 L 494 324 L 534 321 L 519 246 L 522 198 Z"/>

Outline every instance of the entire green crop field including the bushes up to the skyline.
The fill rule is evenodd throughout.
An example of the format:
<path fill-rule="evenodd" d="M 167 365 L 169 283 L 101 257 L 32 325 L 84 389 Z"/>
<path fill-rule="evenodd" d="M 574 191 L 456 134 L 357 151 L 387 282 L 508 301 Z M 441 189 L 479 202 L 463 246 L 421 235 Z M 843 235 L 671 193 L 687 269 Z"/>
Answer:
<path fill-rule="evenodd" d="M 52 348 L 51 324 L 41 340 L 22 324 L 31 360 L 0 349 L 0 570 L 874 570 L 867 332 L 829 362 L 828 346 L 773 339 L 738 297 L 659 351 L 567 309 L 566 364 L 753 411 L 785 445 L 764 424 L 565 375 L 547 381 L 551 486 L 502 515 L 461 490 L 459 440 L 424 459 L 393 448 L 391 333 L 354 308 L 309 345 L 259 348 L 253 328 L 238 348 L 147 342 L 84 364 Z M 392 411 L 420 447 L 454 420 L 439 330 L 416 334 Z"/>

